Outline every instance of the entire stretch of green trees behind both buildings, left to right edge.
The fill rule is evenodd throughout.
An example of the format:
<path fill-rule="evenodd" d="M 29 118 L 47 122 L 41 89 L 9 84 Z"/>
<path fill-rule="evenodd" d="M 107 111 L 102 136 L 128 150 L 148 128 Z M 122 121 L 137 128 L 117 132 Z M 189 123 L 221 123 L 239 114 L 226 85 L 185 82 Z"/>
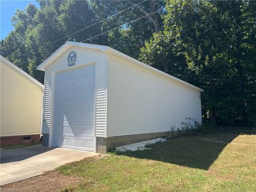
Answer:
<path fill-rule="evenodd" d="M 255 2 L 37 2 L 39 8 L 17 10 L 1 54 L 38 81 L 44 74 L 36 67 L 52 52 L 66 41 L 88 39 L 202 87 L 205 119 L 225 125 L 256 121 Z"/>

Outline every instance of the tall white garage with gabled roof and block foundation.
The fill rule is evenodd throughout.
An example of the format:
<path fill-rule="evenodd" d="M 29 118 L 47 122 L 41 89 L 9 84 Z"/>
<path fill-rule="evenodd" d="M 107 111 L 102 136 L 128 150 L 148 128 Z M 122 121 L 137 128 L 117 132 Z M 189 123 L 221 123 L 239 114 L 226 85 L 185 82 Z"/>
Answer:
<path fill-rule="evenodd" d="M 67 42 L 37 69 L 45 146 L 106 153 L 202 121 L 202 89 L 108 46 Z"/>

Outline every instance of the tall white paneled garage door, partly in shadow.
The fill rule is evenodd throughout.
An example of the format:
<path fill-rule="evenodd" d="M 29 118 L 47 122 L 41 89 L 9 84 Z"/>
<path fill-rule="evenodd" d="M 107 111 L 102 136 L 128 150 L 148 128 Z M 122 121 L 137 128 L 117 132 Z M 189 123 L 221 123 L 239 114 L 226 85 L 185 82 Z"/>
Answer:
<path fill-rule="evenodd" d="M 94 65 L 55 74 L 52 145 L 94 151 Z"/>

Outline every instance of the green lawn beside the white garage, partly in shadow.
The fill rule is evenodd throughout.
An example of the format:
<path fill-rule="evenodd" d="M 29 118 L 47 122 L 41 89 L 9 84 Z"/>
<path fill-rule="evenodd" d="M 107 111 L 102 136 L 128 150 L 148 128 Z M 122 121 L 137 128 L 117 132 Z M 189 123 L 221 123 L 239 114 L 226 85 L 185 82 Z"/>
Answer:
<path fill-rule="evenodd" d="M 85 158 L 57 170 L 81 177 L 63 191 L 255 191 L 256 135 L 172 138 L 151 150 Z"/>

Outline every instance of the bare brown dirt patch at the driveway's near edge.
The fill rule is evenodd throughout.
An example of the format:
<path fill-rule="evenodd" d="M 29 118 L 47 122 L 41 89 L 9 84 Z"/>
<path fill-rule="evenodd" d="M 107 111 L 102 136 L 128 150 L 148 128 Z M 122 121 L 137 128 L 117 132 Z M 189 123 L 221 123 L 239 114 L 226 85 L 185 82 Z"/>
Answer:
<path fill-rule="evenodd" d="M 68 177 L 56 171 L 47 171 L 33 178 L 9 183 L 0 187 L 0 191 L 59 191 L 70 185 L 77 185 L 81 178 Z"/>

